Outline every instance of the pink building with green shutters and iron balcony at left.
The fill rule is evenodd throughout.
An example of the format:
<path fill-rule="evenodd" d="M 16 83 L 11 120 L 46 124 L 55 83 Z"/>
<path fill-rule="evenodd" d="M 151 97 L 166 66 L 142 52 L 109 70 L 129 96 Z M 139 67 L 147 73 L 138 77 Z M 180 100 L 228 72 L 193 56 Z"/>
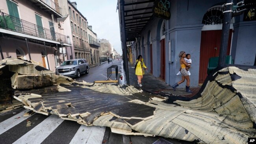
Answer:
<path fill-rule="evenodd" d="M 0 59 L 23 57 L 55 71 L 72 55 L 70 38 L 59 30 L 58 0 L 1 0 L 0 9 Z"/>

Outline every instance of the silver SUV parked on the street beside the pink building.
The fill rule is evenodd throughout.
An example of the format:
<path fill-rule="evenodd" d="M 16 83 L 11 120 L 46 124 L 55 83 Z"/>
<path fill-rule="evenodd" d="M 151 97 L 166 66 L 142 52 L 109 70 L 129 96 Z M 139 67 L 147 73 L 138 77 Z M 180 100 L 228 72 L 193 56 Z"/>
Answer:
<path fill-rule="evenodd" d="M 78 77 L 85 72 L 89 73 L 89 64 L 86 59 L 71 59 L 63 61 L 61 66 L 56 68 L 56 73 L 68 77 Z"/>

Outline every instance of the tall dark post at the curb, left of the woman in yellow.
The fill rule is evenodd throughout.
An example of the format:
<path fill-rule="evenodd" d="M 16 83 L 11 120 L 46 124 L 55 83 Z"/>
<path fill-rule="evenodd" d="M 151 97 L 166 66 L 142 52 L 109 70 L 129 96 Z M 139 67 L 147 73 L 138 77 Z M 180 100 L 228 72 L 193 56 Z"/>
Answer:
<path fill-rule="evenodd" d="M 124 61 L 124 71 L 126 74 L 126 82 L 127 85 L 130 85 L 129 81 L 129 70 L 128 70 L 128 57 L 127 57 L 127 49 L 126 49 L 126 33 L 125 33 L 125 24 L 124 24 L 124 0 L 119 0 L 119 17 L 120 20 L 120 30 L 121 33 L 121 41 L 122 41 L 122 50 L 123 50 L 123 61 Z"/>

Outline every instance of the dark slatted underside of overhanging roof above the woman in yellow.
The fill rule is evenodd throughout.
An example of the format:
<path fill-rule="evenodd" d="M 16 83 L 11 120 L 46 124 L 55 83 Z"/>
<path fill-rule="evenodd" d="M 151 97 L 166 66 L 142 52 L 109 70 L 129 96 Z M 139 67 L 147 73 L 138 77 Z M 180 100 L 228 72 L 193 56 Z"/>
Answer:
<path fill-rule="evenodd" d="M 135 41 L 151 20 L 154 0 L 124 0 L 126 41 Z"/>

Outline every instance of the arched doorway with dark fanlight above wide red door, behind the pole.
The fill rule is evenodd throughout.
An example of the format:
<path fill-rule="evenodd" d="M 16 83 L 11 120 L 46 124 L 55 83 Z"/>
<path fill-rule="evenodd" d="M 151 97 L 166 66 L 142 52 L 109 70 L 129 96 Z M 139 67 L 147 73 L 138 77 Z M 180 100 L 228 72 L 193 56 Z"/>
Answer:
<path fill-rule="evenodd" d="M 223 23 L 223 7 L 213 6 L 204 14 L 202 24 L 200 44 L 200 65 L 198 83 L 203 83 L 207 77 L 207 67 L 210 57 L 218 57 L 221 47 L 221 33 Z M 230 24 L 232 28 L 233 25 Z M 232 39 L 232 29 L 230 29 L 228 39 L 227 55 L 230 55 L 230 46 Z"/>

